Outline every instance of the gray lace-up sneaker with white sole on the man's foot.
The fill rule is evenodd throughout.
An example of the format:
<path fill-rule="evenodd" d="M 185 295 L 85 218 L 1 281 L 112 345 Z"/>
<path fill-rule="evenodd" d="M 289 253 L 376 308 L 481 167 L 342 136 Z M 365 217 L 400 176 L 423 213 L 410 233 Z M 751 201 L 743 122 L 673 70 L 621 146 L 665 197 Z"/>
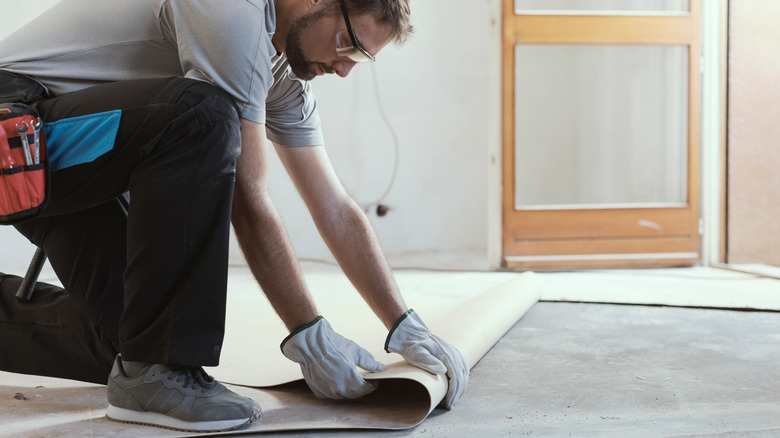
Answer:
<path fill-rule="evenodd" d="M 203 368 L 154 364 L 129 377 L 117 356 L 108 377 L 106 416 L 188 432 L 218 432 L 248 425 L 260 417 L 260 406 Z"/>

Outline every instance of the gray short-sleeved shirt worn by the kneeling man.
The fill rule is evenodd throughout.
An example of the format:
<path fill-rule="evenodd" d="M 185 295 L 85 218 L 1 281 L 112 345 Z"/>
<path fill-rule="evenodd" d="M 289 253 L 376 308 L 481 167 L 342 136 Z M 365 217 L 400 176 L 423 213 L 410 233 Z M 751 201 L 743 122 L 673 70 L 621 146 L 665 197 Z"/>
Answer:
<path fill-rule="evenodd" d="M 317 102 L 271 44 L 275 0 L 62 0 L 0 41 L 0 69 L 55 94 L 183 76 L 233 96 L 285 146 L 323 144 Z"/>

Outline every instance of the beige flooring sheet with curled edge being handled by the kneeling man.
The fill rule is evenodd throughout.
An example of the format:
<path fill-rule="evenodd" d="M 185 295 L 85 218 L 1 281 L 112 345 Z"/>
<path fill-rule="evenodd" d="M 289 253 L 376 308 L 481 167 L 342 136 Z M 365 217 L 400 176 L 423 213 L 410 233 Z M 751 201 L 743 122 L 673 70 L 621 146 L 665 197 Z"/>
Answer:
<path fill-rule="evenodd" d="M 471 366 L 538 301 L 542 291 L 540 276 L 532 273 L 410 271 L 397 278 L 407 304 L 435 333 L 455 344 Z M 248 272 L 232 270 L 222 364 L 208 372 L 260 402 L 263 416 L 247 429 L 215 435 L 397 430 L 422 422 L 444 397 L 445 379 L 408 366 L 400 356 L 382 350 L 386 330 L 342 275 L 325 270 L 307 274 L 307 281 L 320 312 L 334 328 L 388 364 L 387 371 L 367 376 L 380 381 L 379 389 L 356 401 L 314 397 L 300 380 L 298 366 L 279 350 L 286 329 Z M 26 400 L 14 398 L 16 393 Z M 106 419 L 105 388 L 99 385 L 0 373 L 0 396 L 0 418 L 5 423 L 0 428 L 2 436 L 188 435 Z"/>

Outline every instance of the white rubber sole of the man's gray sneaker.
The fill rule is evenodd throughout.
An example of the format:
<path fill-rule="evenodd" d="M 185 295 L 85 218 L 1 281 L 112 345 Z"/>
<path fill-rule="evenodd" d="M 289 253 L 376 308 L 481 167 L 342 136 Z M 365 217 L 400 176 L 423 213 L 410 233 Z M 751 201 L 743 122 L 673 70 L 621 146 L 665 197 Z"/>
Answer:
<path fill-rule="evenodd" d="M 184 421 L 156 412 L 141 412 L 130 409 L 118 408 L 108 405 L 106 417 L 125 423 L 144 424 L 148 426 L 164 427 L 167 429 L 182 430 L 185 432 L 226 432 L 248 425 L 260 417 L 260 411 L 255 410 L 249 418 L 237 420 L 218 421 Z"/>

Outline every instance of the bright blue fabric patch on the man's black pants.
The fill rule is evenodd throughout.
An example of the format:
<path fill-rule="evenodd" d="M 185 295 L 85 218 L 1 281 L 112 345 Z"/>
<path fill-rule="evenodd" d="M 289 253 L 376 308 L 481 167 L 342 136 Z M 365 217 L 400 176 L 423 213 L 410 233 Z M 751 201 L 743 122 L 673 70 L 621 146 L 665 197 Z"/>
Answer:
<path fill-rule="evenodd" d="M 91 163 L 114 148 L 122 110 L 44 123 L 51 171 Z"/>

